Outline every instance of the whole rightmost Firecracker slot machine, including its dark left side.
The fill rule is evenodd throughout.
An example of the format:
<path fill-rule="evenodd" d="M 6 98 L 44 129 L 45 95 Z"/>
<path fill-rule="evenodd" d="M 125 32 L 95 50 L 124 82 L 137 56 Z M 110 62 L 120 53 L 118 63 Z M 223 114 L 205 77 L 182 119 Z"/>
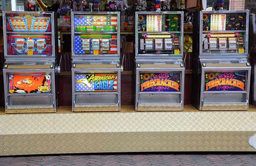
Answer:
<path fill-rule="evenodd" d="M 247 110 L 249 10 L 200 11 L 199 20 L 194 106 L 199 110 Z"/>

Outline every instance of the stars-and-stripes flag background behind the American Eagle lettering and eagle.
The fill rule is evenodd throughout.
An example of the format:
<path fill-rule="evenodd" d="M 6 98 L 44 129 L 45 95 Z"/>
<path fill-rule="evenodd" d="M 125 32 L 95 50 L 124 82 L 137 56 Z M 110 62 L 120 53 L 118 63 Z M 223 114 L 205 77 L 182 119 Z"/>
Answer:
<path fill-rule="evenodd" d="M 85 85 L 84 83 L 78 83 L 78 80 L 80 79 L 89 79 L 93 74 L 76 74 L 76 92 L 99 92 L 99 91 L 111 91 L 111 92 L 116 92 L 117 91 L 117 75 L 116 74 L 95 74 L 94 77 L 102 77 L 102 76 L 113 76 L 115 75 L 116 78 L 113 79 L 114 82 L 114 86 L 113 86 L 113 90 L 108 90 L 108 89 L 102 89 L 102 90 L 95 90 L 95 83 L 93 82 L 93 80 L 90 80 L 90 85 L 92 86 L 91 88 L 89 88 L 87 85 Z"/>

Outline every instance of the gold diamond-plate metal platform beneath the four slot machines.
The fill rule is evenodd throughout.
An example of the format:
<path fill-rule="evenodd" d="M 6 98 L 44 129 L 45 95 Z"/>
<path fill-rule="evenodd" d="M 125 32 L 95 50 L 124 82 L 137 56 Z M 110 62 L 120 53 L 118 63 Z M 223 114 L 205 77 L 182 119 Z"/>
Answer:
<path fill-rule="evenodd" d="M 256 106 L 249 111 L 72 112 L 5 114 L 0 111 L 0 155 L 99 152 L 256 152 Z"/>

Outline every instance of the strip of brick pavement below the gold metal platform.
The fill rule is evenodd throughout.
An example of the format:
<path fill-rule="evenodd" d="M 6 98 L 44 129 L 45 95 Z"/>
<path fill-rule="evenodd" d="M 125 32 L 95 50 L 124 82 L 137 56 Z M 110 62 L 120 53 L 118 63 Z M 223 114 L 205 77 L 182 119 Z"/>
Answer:
<path fill-rule="evenodd" d="M 0 157 L 0 166 L 256 166 L 256 155 L 59 155 Z"/>

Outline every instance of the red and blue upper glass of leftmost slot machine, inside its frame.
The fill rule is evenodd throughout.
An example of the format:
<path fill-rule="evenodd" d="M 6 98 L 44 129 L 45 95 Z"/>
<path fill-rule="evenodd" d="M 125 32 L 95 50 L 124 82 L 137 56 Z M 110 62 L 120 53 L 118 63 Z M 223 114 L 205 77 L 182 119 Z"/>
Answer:
<path fill-rule="evenodd" d="M 51 14 L 6 14 L 7 54 L 51 56 L 51 24 Z"/>

